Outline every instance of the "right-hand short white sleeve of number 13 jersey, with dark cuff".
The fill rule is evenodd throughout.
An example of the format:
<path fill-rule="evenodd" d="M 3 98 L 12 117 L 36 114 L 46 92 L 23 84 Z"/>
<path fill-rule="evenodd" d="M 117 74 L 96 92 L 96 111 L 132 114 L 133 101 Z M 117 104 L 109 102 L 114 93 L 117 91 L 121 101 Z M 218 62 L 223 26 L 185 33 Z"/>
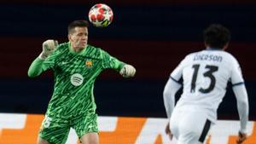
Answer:
<path fill-rule="evenodd" d="M 231 60 L 231 66 L 232 66 L 232 70 L 231 70 L 231 83 L 234 84 L 241 84 L 244 82 L 243 78 L 242 78 L 242 74 L 241 74 L 241 67 L 238 63 L 238 61 L 233 58 L 233 60 Z"/>

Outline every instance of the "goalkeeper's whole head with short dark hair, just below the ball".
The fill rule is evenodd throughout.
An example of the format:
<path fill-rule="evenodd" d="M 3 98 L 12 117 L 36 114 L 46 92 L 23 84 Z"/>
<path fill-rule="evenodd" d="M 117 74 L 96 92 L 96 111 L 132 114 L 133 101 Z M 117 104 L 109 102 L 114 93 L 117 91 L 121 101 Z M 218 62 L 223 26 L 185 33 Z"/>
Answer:
<path fill-rule="evenodd" d="M 71 48 L 79 52 L 86 48 L 88 40 L 88 26 L 86 20 L 74 20 L 68 27 L 68 40 L 71 43 Z"/>

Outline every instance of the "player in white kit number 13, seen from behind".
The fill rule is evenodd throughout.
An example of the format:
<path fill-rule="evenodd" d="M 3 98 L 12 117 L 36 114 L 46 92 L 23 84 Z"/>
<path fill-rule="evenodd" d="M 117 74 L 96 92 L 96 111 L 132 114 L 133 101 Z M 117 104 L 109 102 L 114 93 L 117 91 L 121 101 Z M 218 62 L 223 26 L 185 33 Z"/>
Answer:
<path fill-rule="evenodd" d="M 204 143 L 230 81 L 241 120 L 237 143 L 242 143 L 247 138 L 248 99 L 241 68 L 236 58 L 224 51 L 230 31 L 211 25 L 204 31 L 204 41 L 207 49 L 187 55 L 166 83 L 164 103 L 170 119 L 166 134 L 171 140 L 174 135 L 177 144 Z M 182 86 L 183 94 L 175 106 L 175 95 Z"/>

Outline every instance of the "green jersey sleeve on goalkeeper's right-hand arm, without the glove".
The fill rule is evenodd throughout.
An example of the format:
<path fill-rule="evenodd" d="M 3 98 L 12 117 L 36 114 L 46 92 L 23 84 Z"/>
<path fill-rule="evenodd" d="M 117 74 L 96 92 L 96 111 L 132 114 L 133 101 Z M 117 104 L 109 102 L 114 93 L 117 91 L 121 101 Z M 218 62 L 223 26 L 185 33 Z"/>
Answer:
<path fill-rule="evenodd" d="M 125 62 L 122 62 L 115 57 L 109 55 L 106 51 L 101 49 L 101 55 L 102 55 L 102 66 L 104 69 L 112 68 L 116 71 L 120 71 L 123 66 L 125 66 Z"/>

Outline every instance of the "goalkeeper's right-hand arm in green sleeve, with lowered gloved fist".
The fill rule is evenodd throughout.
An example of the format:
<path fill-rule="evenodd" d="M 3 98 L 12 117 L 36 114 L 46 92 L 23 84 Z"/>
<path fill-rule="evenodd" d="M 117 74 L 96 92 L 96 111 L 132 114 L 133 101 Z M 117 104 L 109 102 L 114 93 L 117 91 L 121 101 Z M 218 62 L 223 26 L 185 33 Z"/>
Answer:
<path fill-rule="evenodd" d="M 136 73 L 136 69 L 134 66 L 129 64 L 125 64 L 115 57 L 109 55 L 106 51 L 102 50 L 102 57 L 103 57 L 103 67 L 104 68 L 113 68 L 120 73 L 124 78 L 131 78 L 134 77 Z"/>

